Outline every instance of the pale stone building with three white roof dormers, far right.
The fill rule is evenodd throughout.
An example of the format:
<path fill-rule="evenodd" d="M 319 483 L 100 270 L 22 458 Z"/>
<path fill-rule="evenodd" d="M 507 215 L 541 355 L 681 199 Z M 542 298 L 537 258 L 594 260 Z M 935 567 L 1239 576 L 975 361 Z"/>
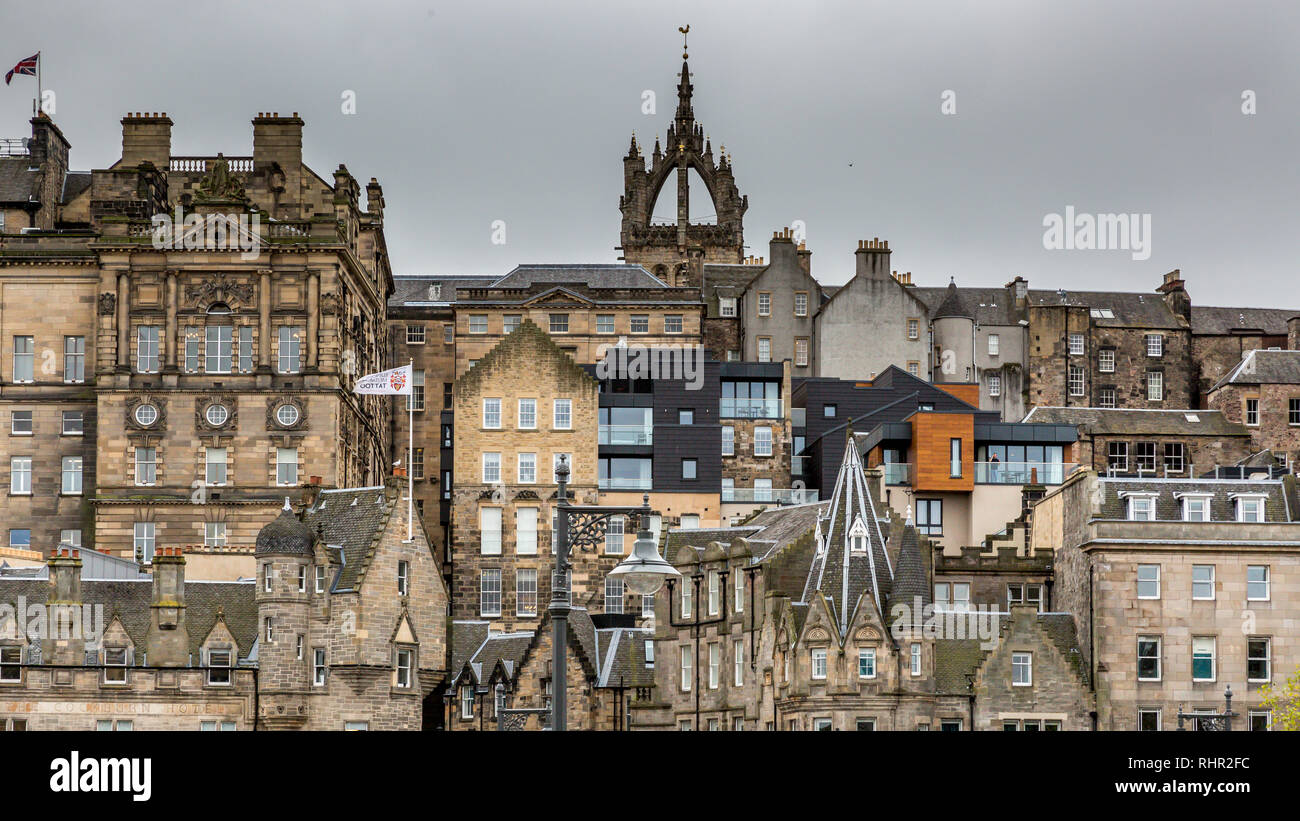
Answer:
<path fill-rule="evenodd" d="M 1221 712 L 1238 730 L 1271 716 L 1260 688 L 1300 665 L 1300 524 L 1286 479 L 1114 479 L 1083 472 L 1034 508 L 1056 551 L 1054 607 L 1079 625 L 1097 729 L 1173 730 Z M 1195 720 L 1193 720 L 1195 724 Z"/>

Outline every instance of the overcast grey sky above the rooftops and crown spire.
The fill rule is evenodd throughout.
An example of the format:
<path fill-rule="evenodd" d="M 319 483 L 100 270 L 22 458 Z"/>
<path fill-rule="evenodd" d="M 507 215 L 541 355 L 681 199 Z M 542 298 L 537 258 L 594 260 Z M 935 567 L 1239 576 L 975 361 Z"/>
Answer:
<path fill-rule="evenodd" d="M 399 274 L 615 261 L 621 157 L 671 121 L 689 22 L 696 117 L 733 156 L 751 253 L 802 220 L 824 283 L 880 236 L 919 284 L 1150 290 L 1180 268 L 1197 304 L 1300 307 L 1294 1 L 6 0 L 3 18 L 3 70 L 42 51 L 74 168 L 117 160 L 127 110 L 166 110 L 176 155 L 251 153 L 257 112 L 296 110 L 317 173 L 384 183 Z M 30 133 L 34 88 L 0 87 L 0 136 Z M 1067 205 L 1150 214 L 1150 259 L 1044 249 Z"/>

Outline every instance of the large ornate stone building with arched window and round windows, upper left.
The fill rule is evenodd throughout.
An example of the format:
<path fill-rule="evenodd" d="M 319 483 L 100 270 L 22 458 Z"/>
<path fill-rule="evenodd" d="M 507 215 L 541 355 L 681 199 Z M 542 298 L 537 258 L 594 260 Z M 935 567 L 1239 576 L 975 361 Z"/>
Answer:
<path fill-rule="evenodd" d="M 389 401 L 351 391 L 386 353 L 380 184 L 363 205 L 344 166 L 308 169 L 296 114 L 259 114 L 248 157 L 173 156 L 172 120 L 131 114 L 87 173 L 32 129 L 0 158 L 56 192 L 0 234 L 10 539 L 148 561 L 250 543 L 285 492 L 380 481 Z"/>

